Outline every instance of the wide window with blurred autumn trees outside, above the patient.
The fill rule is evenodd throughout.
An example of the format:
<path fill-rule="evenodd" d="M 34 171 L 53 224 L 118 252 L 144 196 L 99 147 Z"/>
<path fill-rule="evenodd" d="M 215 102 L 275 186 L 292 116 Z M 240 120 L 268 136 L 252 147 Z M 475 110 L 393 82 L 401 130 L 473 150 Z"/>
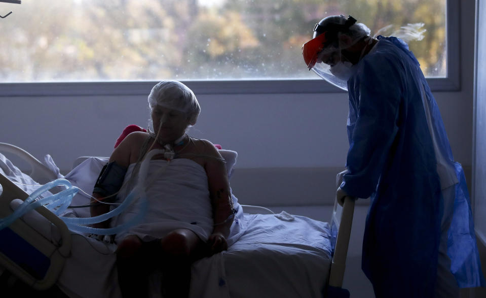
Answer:
<path fill-rule="evenodd" d="M 311 78 L 302 44 L 322 17 L 350 14 L 409 43 L 446 77 L 446 0 L 36 0 L 0 3 L 2 82 Z M 387 27 L 388 26 L 388 27 Z"/>

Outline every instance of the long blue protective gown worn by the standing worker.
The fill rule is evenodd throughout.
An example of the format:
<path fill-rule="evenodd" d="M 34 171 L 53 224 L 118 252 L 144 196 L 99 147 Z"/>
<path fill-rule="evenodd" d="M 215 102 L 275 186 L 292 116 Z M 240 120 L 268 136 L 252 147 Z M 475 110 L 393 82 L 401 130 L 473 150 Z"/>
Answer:
<path fill-rule="evenodd" d="M 443 202 L 427 104 L 435 152 L 442 152 L 456 175 L 447 235 L 451 271 L 459 287 L 484 285 L 464 172 L 419 62 L 400 39 L 378 39 L 348 80 L 350 172 L 341 188 L 371 200 L 362 269 L 377 297 L 434 295 Z"/>

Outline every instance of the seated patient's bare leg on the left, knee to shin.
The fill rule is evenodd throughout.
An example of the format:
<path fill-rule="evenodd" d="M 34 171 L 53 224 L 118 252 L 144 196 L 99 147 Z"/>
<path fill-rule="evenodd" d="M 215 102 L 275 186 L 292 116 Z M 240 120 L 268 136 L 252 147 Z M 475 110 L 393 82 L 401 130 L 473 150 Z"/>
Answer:
<path fill-rule="evenodd" d="M 125 237 L 117 248 L 118 281 L 122 296 L 148 297 L 148 270 L 142 242 L 135 235 Z"/>

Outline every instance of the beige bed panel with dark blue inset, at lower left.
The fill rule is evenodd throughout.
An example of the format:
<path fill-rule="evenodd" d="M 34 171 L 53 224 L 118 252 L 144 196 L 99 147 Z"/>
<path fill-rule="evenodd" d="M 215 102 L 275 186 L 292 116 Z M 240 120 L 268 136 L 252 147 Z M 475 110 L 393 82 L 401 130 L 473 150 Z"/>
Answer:
<path fill-rule="evenodd" d="M 14 200 L 24 201 L 29 195 L 3 174 L 0 174 L 0 185 L 0 218 L 5 218 L 13 213 Z M 71 235 L 66 224 L 46 207 L 29 213 L 43 216 L 55 225 L 61 236 L 59 243 L 53 243 L 18 218 L 0 230 L 0 265 L 33 289 L 46 290 L 57 281 L 65 258 L 70 255 Z"/>

